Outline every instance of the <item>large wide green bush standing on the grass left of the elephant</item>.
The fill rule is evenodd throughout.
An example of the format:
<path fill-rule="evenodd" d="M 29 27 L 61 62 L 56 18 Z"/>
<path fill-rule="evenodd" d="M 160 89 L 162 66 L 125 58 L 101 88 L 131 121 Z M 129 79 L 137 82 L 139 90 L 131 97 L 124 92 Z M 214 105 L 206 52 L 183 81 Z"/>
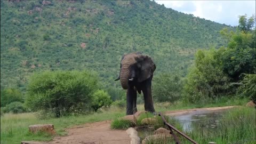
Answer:
<path fill-rule="evenodd" d="M 87 113 L 98 77 L 90 71 L 45 71 L 30 77 L 26 105 L 31 110 L 53 111 L 55 117 Z"/>

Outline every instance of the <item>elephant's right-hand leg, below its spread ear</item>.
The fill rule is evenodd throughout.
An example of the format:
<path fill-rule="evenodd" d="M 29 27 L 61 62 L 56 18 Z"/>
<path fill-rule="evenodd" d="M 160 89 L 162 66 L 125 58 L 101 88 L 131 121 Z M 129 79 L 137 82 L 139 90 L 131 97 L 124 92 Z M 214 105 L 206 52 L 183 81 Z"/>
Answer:
<path fill-rule="evenodd" d="M 144 108 L 146 111 L 150 111 L 151 113 L 155 112 L 155 108 L 153 105 L 153 99 L 151 94 L 151 79 L 148 79 L 145 86 L 142 89 L 144 96 Z"/>

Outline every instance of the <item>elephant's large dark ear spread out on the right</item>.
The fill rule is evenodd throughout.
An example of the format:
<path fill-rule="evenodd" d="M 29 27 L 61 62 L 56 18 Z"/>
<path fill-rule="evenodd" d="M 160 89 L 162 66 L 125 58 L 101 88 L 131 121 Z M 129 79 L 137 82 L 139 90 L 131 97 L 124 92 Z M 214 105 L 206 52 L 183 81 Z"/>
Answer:
<path fill-rule="evenodd" d="M 143 82 L 153 75 L 156 65 L 148 55 L 138 55 L 137 66 L 139 68 L 138 82 Z"/>

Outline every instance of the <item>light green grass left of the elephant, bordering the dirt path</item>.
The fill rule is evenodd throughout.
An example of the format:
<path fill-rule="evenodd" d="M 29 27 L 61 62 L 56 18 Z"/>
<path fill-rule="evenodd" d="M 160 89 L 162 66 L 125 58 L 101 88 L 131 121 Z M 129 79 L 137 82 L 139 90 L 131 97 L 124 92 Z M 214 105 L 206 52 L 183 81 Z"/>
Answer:
<path fill-rule="evenodd" d="M 124 115 L 125 111 L 115 107 L 108 111 L 103 111 L 103 113 L 50 119 L 38 119 L 35 117 L 35 113 L 4 114 L 1 116 L 1 143 L 20 143 L 22 140 L 49 141 L 53 138 L 53 136 L 46 133 L 29 133 L 29 125 L 53 124 L 58 135 L 65 135 L 67 134 L 64 131 L 65 128 L 89 122 L 104 121 Z"/>

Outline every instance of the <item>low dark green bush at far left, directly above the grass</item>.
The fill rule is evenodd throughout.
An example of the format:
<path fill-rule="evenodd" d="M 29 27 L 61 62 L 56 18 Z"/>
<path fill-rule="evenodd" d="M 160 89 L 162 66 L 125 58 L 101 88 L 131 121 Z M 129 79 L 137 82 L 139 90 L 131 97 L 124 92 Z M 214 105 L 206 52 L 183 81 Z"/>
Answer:
<path fill-rule="evenodd" d="M 23 106 L 23 103 L 19 101 L 12 102 L 3 108 L 3 113 L 11 112 L 13 114 L 18 114 L 18 113 L 24 113 L 25 111 L 26 111 L 26 108 Z"/>

